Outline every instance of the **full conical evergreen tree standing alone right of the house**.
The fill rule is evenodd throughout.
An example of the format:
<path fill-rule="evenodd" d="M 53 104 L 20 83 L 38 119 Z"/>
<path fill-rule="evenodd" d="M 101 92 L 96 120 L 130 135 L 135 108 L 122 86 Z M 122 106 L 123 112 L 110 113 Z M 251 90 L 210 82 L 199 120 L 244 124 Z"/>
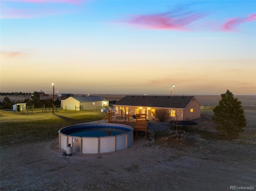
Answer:
<path fill-rule="evenodd" d="M 234 98 L 229 90 L 221 95 L 221 100 L 213 112 L 212 120 L 217 124 L 215 129 L 226 134 L 226 137 L 237 138 L 239 133 L 244 131 L 246 118 L 244 117 L 242 102 Z"/>

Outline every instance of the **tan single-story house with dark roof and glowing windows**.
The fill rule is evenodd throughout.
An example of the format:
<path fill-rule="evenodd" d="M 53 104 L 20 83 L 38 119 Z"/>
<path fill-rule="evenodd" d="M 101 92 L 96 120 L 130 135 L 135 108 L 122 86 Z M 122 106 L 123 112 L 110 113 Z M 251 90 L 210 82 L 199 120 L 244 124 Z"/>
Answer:
<path fill-rule="evenodd" d="M 193 120 L 200 118 L 200 102 L 195 96 L 125 96 L 115 105 L 115 115 L 145 114 L 156 118 L 156 112 L 166 110 L 168 120 Z M 165 112 L 166 112 L 165 111 Z"/>

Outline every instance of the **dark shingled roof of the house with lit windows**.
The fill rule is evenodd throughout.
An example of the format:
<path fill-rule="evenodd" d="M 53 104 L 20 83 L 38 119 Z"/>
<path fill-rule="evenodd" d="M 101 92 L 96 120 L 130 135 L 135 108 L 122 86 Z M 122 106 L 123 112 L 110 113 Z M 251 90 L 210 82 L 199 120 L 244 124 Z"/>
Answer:
<path fill-rule="evenodd" d="M 115 105 L 184 109 L 193 99 L 198 101 L 194 96 L 125 96 Z"/>

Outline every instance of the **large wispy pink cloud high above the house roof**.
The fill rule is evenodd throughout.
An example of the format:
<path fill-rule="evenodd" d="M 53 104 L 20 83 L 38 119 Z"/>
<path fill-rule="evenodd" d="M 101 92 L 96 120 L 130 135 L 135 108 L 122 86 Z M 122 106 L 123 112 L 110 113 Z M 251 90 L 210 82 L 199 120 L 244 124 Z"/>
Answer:
<path fill-rule="evenodd" d="M 133 16 L 127 23 L 149 29 L 188 30 L 189 24 L 204 18 L 204 16 L 205 14 L 200 13 L 183 13 L 175 16 L 172 12 L 167 12 Z"/>

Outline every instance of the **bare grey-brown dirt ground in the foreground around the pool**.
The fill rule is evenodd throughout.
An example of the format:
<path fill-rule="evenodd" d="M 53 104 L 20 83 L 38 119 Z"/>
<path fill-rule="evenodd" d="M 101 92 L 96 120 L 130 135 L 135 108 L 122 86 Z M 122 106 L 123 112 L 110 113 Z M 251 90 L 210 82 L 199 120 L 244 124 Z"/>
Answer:
<path fill-rule="evenodd" d="M 1 151 L 1 190 L 48 191 L 227 191 L 256 189 L 256 110 L 246 110 L 248 125 L 238 140 L 205 138 L 187 132 L 184 140 L 154 140 L 149 130 L 127 149 L 105 154 L 62 156 L 58 139 Z M 214 132 L 211 111 L 197 128 Z M 152 123 L 151 128 L 166 124 Z M 166 127 L 168 128 L 168 127 Z M 168 131 L 168 130 L 167 130 Z M 143 133 L 142 133 L 143 135 Z"/>

